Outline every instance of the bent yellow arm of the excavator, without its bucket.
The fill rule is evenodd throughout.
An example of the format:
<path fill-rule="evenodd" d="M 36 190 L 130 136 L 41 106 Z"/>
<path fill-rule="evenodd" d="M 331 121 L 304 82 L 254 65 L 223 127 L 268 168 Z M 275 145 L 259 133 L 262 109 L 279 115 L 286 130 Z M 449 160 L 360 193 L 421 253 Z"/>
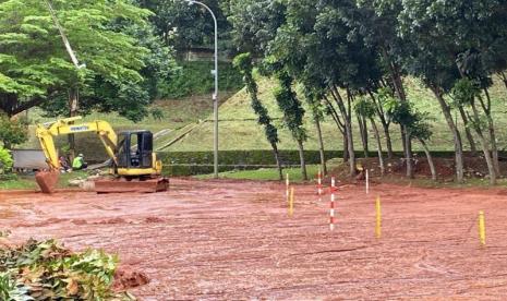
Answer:
<path fill-rule="evenodd" d="M 77 133 L 94 132 L 98 135 L 102 142 L 109 157 L 118 165 L 118 158 L 116 156 L 116 148 L 118 144 L 118 136 L 111 125 L 101 120 L 86 122 L 82 124 L 71 124 L 81 117 L 73 117 L 61 119 L 56 122 L 45 123 L 37 125 L 36 135 L 40 142 L 46 161 L 49 165 L 49 169 L 60 169 L 60 160 L 58 158 L 57 147 L 55 146 L 55 137 L 59 135 L 69 135 Z"/>

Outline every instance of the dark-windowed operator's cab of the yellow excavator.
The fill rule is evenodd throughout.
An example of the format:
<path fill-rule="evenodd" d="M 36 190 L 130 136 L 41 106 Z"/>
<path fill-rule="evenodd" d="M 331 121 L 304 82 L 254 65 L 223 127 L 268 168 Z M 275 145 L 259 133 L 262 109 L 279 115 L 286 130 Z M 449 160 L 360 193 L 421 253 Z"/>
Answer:
<path fill-rule="evenodd" d="M 118 135 L 118 168 L 152 169 L 153 134 L 149 131 L 126 131 Z"/>

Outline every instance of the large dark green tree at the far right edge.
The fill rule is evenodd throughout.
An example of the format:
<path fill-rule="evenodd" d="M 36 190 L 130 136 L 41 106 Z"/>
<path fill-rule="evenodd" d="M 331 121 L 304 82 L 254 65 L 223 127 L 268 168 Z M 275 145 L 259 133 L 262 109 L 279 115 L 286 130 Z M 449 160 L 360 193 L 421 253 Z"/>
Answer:
<path fill-rule="evenodd" d="M 495 172 L 499 173 L 488 87 L 493 83 L 491 80 L 493 74 L 502 76 L 506 69 L 507 28 L 504 20 L 507 17 L 507 10 L 505 1 L 410 0 L 405 1 L 403 4 L 403 13 L 399 15 L 402 32 L 417 38 L 421 50 L 431 52 L 435 58 L 434 62 L 440 67 L 440 71 L 447 69 L 447 74 L 454 73 L 451 81 L 440 76 L 444 81 L 440 81 L 439 87 L 436 87 L 436 93 L 439 94 L 437 98 L 449 94 L 456 84 L 459 85 L 457 82 L 463 79 L 476 82 L 481 94 L 484 93 L 475 97 L 479 105 L 476 109 L 479 116 L 485 117 L 487 129 L 484 130 L 483 135 L 484 139 L 490 140 L 492 164 Z M 433 86 L 435 84 L 434 82 Z M 457 108 L 464 123 L 476 123 L 473 117 L 472 120 L 468 120 L 469 116 L 462 107 Z M 447 112 L 444 113 L 447 118 Z M 476 124 L 469 125 L 476 132 Z M 467 133 L 467 136 L 470 134 Z M 481 147 L 484 148 L 482 137 L 479 136 L 479 140 Z"/>

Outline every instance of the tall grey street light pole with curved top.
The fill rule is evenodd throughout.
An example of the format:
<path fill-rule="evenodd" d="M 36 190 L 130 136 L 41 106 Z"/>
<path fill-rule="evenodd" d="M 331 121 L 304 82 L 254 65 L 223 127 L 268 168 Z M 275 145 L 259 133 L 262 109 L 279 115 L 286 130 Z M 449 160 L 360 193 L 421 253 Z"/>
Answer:
<path fill-rule="evenodd" d="M 215 70 L 212 70 L 212 74 L 215 75 L 215 93 L 213 94 L 213 115 L 214 115 L 214 133 L 213 133 L 213 150 L 214 150 L 214 177 L 218 179 L 218 23 L 215 13 L 208 5 L 194 1 L 194 0 L 184 0 L 189 4 L 198 4 L 205 8 L 213 17 L 215 25 Z"/>

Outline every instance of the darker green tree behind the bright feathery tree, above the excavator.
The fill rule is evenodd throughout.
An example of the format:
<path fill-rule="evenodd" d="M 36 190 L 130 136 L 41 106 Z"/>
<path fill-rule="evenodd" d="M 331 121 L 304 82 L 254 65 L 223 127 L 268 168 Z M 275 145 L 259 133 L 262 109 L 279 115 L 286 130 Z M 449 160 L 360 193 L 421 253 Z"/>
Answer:
<path fill-rule="evenodd" d="M 145 24 L 116 24 L 118 31 L 135 37 L 136 45 L 149 50 L 143 58 L 144 67 L 138 70 L 143 81 L 131 81 L 124 77 L 108 79 L 97 74 L 87 79 L 80 91 L 80 106 L 77 113 L 85 116 L 93 111 L 117 111 L 134 122 L 140 122 L 148 113 L 156 115 L 149 105 L 158 97 L 160 82 L 170 81 L 174 74 L 176 61 L 173 51 L 165 46 L 162 40 L 154 34 L 153 26 Z M 67 116 L 68 93 L 60 92 L 49 97 L 41 105 L 48 117 Z"/>

